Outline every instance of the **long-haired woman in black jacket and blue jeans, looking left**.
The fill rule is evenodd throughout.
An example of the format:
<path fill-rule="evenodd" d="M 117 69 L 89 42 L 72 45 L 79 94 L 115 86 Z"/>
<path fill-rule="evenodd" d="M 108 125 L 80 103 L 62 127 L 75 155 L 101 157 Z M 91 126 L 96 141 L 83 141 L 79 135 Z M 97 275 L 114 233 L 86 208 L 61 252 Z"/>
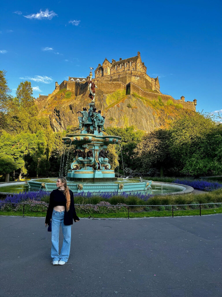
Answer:
<path fill-rule="evenodd" d="M 73 192 L 67 187 L 67 181 L 64 176 L 59 176 L 56 187 L 57 189 L 50 194 L 45 225 L 49 225 L 52 219 L 52 264 L 64 265 L 68 261 L 70 253 L 71 225 L 73 225 L 73 219 L 74 222 L 79 222 L 79 218 L 75 212 Z M 60 225 L 62 225 L 64 238 L 59 255 Z"/>

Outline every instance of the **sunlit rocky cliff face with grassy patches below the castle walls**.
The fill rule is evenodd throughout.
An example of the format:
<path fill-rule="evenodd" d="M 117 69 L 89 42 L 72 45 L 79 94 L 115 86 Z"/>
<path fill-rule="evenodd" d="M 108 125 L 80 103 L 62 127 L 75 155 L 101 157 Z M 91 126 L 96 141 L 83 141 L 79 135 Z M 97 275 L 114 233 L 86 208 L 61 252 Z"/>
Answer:
<path fill-rule="evenodd" d="M 128 127 L 135 126 L 137 129 L 147 132 L 155 128 L 165 127 L 169 122 L 182 113 L 194 113 L 185 110 L 179 105 L 165 105 L 163 102 L 154 102 L 140 96 L 126 95 L 124 91 L 115 91 L 104 94 L 96 89 L 96 108 L 106 117 L 105 127 Z M 88 92 L 75 97 L 71 91 L 65 89 L 53 96 L 49 96 L 41 105 L 40 115 L 49 117 L 52 129 L 62 131 L 67 126 L 78 126 L 79 110 L 91 102 Z"/>

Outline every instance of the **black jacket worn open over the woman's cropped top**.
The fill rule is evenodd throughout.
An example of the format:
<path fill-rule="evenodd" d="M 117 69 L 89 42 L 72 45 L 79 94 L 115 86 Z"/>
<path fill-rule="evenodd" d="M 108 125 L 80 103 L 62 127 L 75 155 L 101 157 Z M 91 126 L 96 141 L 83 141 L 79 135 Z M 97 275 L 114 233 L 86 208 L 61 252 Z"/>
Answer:
<path fill-rule="evenodd" d="M 47 209 L 46 222 L 45 222 L 48 225 L 50 223 L 50 220 L 52 219 L 52 211 L 54 208 L 53 200 L 54 200 L 54 195 L 56 195 L 57 191 L 58 191 L 57 189 L 53 190 L 50 194 L 49 206 Z M 73 192 L 71 190 L 69 190 L 69 192 L 70 192 L 70 208 L 69 208 L 69 211 L 66 211 L 66 206 L 65 206 L 64 225 L 73 225 L 73 220 L 79 221 L 79 218 L 77 217 L 75 212 Z"/>

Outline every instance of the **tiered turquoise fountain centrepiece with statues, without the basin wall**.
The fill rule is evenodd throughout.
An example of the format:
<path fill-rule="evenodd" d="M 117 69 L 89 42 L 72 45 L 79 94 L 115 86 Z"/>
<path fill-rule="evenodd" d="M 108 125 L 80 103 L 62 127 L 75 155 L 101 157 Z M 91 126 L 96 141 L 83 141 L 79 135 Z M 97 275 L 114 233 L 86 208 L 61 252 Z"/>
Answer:
<path fill-rule="evenodd" d="M 115 181 L 114 170 L 110 168 L 107 158 L 107 145 L 120 143 L 121 137 L 104 135 L 105 116 L 101 110 L 96 109 L 95 89 L 97 86 L 92 81 L 92 72 L 89 74 L 89 98 L 91 102 L 83 111 L 78 111 L 78 134 L 71 133 L 62 138 L 65 144 L 76 145 L 75 156 L 67 172 L 69 181 Z"/>

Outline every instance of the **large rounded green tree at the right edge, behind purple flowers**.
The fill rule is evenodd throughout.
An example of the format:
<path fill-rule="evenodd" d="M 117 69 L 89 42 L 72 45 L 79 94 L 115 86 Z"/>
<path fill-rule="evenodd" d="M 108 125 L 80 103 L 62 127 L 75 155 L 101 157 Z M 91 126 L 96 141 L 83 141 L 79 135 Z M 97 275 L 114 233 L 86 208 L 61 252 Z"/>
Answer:
<path fill-rule="evenodd" d="M 201 113 L 172 122 L 170 150 L 181 173 L 195 177 L 221 174 L 221 127 L 211 115 Z"/>

